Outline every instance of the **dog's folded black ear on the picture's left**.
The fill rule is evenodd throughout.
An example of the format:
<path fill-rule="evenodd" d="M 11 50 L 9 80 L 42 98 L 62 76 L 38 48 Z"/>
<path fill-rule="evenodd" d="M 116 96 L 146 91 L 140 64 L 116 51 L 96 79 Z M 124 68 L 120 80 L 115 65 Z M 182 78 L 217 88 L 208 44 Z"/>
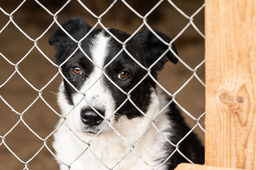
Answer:
<path fill-rule="evenodd" d="M 81 17 L 74 17 L 61 23 L 61 26 L 74 39 L 79 41 L 90 31 L 91 26 L 88 25 Z M 60 27 L 55 29 L 49 38 L 49 44 L 56 48 L 56 64 L 60 65 L 65 57 L 65 53 L 69 48 L 76 45 L 76 43 L 64 32 Z M 77 45 L 76 45 L 77 46 Z"/>

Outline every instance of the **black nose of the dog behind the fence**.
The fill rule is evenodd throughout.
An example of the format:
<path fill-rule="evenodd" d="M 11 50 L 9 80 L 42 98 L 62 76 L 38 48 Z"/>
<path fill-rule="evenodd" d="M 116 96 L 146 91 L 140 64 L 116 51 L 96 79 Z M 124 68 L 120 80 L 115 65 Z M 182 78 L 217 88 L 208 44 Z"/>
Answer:
<path fill-rule="evenodd" d="M 100 115 L 102 115 L 104 117 L 104 113 L 100 110 L 97 110 Z M 99 125 L 103 118 L 100 117 L 100 115 L 98 115 L 98 113 L 96 113 L 95 111 L 91 110 L 91 109 L 84 109 L 81 111 L 81 120 L 84 122 L 84 124 L 86 125 Z"/>

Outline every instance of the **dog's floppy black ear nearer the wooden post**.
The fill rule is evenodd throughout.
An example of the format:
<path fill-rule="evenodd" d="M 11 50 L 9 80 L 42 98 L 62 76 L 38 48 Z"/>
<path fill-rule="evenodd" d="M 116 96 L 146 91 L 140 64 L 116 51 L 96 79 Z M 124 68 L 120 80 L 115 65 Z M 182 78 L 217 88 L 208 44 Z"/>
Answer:
<path fill-rule="evenodd" d="M 157 31 L 156 29 L 153 29 L 156 34 L 162 38 L 167 43 L 170 43 L 172 39 L 168 38 L 163 32 Z M 145 29 L 138 34 L 137 38 L 140 39 L 140 43 L 142 43 L 143 50 L 146 53 L 145 58 L 145 66 L 149 67 L 151 66 L 167 49 L 168 46 L 164 45 L 164 43 L 158 39 L 149 29 Z M 177 50 L 175 46 L 172 44 L 172 50 L 177 54 Z M 159 62 L 156 63 L 154 67 L 152 67 L 152 72 L 159 71 L 163 68 L 164 63 L 169 59 L 174 64 L 178 62 L 178 59 L 173 55 L 173 53 L 169 50 L 166 55 L 159 60 Z"/>

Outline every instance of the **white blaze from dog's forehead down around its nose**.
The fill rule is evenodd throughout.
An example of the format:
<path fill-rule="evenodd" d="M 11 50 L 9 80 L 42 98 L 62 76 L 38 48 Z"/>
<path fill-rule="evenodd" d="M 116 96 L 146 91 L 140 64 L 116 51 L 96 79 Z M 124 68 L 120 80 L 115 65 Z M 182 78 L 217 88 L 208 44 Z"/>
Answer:
<path fill-rule="evenodd" d="M 85 92 L 85 100 L 81 101 L 83 99 L 83 95 L 81 94 L 75 94 L 73 96 L 75 105 L 81 101 L 75 108 L 75 121 L 78 122 L 76 124 L 83 124 L 80 121 L 80 113 L 84 108 L 90 108 L 92 106 L 97 110 L 104 110 L 106 117 L 112 115 L 115 110 L 115 101 L 108 87 L 104 85 L 104 74 L 102 71 L 106 55 L 108 54 L 108 42 L 109 37 L 104 36 L 103 32 L 97 34 L 95 39 L 92 40 L 90 54 L 93 62 L 97 66 L 93 66 L 92 73 L 86 78 L 80 89 L 81 92 Z M 90 64 L 93 65 L 92 62 Z"/>

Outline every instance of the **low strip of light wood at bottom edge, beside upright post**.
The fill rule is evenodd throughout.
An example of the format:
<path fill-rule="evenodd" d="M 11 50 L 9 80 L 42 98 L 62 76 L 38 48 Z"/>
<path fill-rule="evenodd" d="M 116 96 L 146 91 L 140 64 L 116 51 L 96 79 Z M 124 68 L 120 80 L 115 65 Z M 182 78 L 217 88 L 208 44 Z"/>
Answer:
<path fill-rule="evenodd" d="M 242 170 L 227 167 L 202 166 L 197 164 L 179 164 L 175 170 Z M 243 169 L 244 170 L 244 169 Z"/>

